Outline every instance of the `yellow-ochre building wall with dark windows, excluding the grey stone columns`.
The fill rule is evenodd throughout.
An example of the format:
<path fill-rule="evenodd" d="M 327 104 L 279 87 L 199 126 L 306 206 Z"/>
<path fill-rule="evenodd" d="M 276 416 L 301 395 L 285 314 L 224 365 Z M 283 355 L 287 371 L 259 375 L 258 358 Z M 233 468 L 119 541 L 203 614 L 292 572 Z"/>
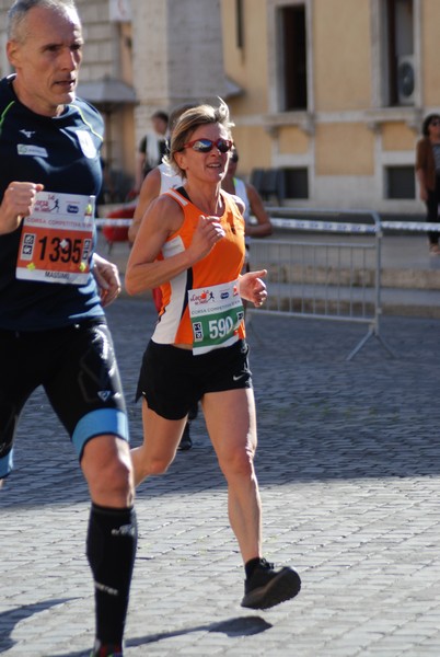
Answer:
<path fill-rule="evenodd" d="M 314 207 L 422 211 L 421 120 L 440 108 L 436 0 L 223 0 L 243 169 Z"/>

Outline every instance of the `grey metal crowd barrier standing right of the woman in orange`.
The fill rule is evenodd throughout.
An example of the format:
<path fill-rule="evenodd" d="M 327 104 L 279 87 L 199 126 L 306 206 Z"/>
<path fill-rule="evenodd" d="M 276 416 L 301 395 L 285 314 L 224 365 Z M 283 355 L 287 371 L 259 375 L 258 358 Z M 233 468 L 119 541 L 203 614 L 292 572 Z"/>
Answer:
<path fill-rule="evenodd" d="M 394 356 L 381 336 L 381 220 L 374 211 L 267 208 L 276 228 L 320 239 L 253 240 L 250 265 L 267 269 L 268 301 L 246 312 L 364 323 L 367 334 L 349 353 L 351 360 L 375 337 Z M 277 217 L 277 215 L 280 215 Z M 298 218 L 313 215 L 313 219 Z M 371 223 L 344 222 L 343 216 L 362 216 Z M 317 217 L 317 218 L 316 218 Z M 341 235 L 344 235 L 341 238 Z M 363 237 L 362 242 L 359 240 Z"/>

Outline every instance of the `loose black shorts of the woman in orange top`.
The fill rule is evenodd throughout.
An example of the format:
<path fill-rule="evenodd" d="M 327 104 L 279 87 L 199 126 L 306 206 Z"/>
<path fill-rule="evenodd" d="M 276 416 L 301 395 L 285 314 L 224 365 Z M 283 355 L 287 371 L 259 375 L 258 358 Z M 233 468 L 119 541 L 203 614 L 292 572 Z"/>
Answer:
<path fill-rule="evenodd" d="M 207 392 L 252 388 L 248 345 L 194 356 L 190 349 L 149 342 L 143 354 L 137 396 L 166 419 L 181 419 Z"/>

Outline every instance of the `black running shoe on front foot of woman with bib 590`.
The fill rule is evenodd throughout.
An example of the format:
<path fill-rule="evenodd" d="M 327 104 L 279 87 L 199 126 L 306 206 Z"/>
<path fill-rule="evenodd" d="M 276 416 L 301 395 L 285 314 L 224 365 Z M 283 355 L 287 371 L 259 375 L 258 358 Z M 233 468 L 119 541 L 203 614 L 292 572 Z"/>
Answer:
<path fill-rule="evenodd" d="M 274 564 L 265 558 L 244 583 L 242 607 L 269 609 L 294 598 L 301 589 L 300 576 L 293 568 L 274 570 Z"/>

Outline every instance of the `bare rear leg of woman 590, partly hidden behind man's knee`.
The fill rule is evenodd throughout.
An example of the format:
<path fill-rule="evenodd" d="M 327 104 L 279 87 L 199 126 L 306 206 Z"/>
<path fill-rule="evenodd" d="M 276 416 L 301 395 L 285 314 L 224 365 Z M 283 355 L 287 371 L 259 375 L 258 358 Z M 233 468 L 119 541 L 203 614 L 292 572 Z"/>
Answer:
<path fill-rule="evenodd" d="M 142 400 L 143 443 L 131 450 L 136 486 L 151 474 L 166 472 L 176 454 L 186 420 L 187 416 L 166 419 Z"/>

